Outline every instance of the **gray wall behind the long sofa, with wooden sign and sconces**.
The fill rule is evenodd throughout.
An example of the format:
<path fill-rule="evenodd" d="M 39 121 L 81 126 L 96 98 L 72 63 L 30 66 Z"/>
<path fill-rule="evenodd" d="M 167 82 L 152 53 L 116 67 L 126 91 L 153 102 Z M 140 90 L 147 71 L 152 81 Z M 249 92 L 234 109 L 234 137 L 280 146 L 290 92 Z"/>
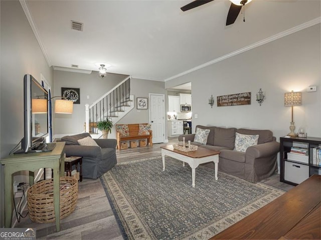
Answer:
<path fill-rule="evenodd" d="M 320 24 L 230 57 L 179 78 L 166 88 L 192 82 L 193 131 L 197 124 L 270 129 L 279 140 L 289 132 L 291 107 L 284 92 L 302 91 L 302 105 L 294 107 L 296 131 L 303 126 L 309 136 L 321 136 Z M 316 85 L 316 92 L 306 92 Z M 261 106 L 255 93 L 266 96 Z M 220 95 L 251 92 L 251 104 L 217 106 Z M 208 98 L 213 94 L 213 108 Z M 195 118 L 198 114 L 198 118 Z"/>

